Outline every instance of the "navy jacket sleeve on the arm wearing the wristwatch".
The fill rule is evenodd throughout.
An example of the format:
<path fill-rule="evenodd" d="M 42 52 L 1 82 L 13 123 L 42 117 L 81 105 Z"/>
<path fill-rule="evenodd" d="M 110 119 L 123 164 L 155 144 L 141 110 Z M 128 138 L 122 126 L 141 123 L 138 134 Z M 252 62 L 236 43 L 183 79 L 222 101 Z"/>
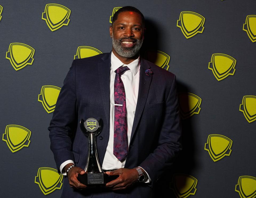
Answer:
<path fill-rule="evenodd" d="M 153 153 L 139 165 L 150 176 L 152 187 L 168 167 L 173 163 L 175 155 L 182 149 L 181 122 L 179 115 L 176 77 L 171 82 L 169 94 L 165 101 L 165 114 L 160 129 L 158 146 Z"/>

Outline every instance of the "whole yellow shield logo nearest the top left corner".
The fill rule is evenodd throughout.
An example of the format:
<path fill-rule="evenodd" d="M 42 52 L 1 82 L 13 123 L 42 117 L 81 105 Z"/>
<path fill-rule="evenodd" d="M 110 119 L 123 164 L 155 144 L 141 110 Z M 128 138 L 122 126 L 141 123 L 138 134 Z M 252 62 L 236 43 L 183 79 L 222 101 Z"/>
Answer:
<path fill-rule="evenodd" d="M 55 31 L 62 26 L 67 26 L 69 24 L 70 12 L 70 9 L 65 6 L 49 3 L 45 6 L 45 12 L 42 14 L 42 19 L 46 21 L 46 24 L 51 31 Z"/>

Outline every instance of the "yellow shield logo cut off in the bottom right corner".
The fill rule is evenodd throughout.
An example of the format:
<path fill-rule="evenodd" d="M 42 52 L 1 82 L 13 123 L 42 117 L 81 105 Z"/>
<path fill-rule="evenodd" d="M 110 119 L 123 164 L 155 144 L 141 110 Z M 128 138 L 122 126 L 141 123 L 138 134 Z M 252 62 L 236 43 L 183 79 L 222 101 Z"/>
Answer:
<path fill-rule="evenodd" d="M 235 191 L 239 193 L 241 198 L 256 197 L 256 178 L 252 176 L 240 176 Z"/>

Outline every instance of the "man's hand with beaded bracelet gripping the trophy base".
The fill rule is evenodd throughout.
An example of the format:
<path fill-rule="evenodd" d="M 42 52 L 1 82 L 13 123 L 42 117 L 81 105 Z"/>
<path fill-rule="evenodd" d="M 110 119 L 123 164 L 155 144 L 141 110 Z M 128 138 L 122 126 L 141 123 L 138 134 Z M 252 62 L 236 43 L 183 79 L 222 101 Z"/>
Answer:
<path fill-rule="evenodd" d="M 64 167 L 64 170 L 67 172 L 67 169 L 74 165 L 73 163 L 69 163 Z M 80 167 L 72 167 L 69 169 L 69 172 L 67 172 L 67 177 L 69 178 L 69 185 L 72 188 L 77 188 L 77 189 L 83 189 L 86 188 L 87 186 L 85 186 L 84 184 L 80 183 L 77 179 L 78 174 L 83 175 L 85 174 L 85 171 L 80 168 Z"/>

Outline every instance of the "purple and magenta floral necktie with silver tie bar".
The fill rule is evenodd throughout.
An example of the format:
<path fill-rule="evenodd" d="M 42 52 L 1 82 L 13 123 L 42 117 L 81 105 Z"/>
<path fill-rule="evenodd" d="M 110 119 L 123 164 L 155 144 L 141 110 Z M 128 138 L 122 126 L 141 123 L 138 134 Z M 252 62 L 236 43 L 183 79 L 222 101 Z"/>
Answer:
<path fill-rule="evenodd" d="M 129 70 L 129 68 L 122 66 L 115 70 L 114 82 L 115 120 L 113 154 L 119 161 L 123 161 L 128 154 L 125 87 L 121 79 L 121 75 L 126 70 Z"/>

